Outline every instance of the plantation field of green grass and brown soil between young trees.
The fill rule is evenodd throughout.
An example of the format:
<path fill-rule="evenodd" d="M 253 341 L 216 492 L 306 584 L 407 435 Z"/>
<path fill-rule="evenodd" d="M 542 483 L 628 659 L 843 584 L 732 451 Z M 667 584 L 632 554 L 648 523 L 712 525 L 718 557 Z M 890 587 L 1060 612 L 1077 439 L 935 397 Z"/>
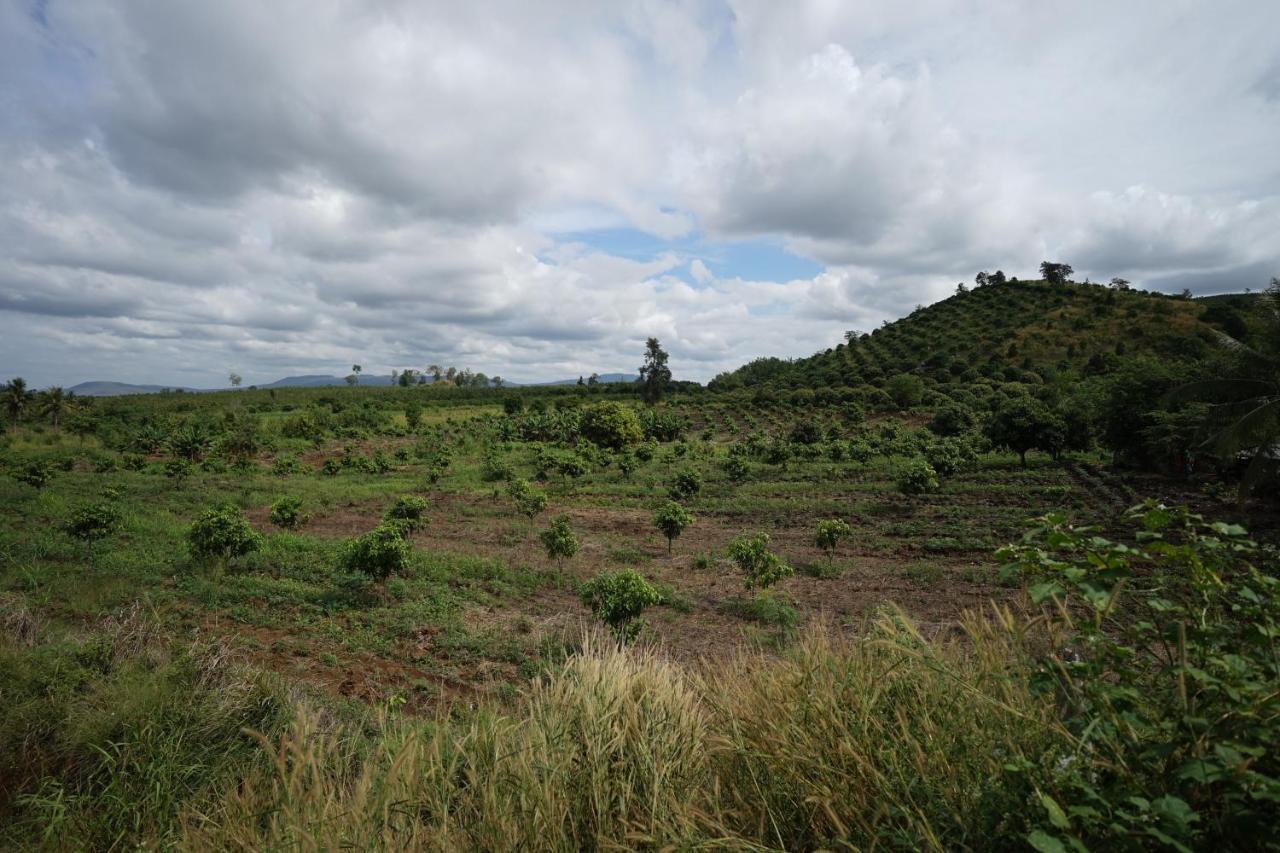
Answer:
<path fill-rule="evenodd" d="M 220 402 L 233 411 L 246 405 L 234 394 Z M 554 442 L 502 441 L 498 405 L 426 406 L 412 433 L 403 412 L 387 411 L 371 432 L 390 434 L 320 441 L 271 438 L 289 415 L 266 411 L 259 429 L 270 448 L 230 470 L 210 456 L 212 464 L 180 478 L 165 475 L 159 453 L 133 455 L 140 470 L 101 470 L 129 455 L 32 435 L 14 452 L 56 460 L 56 473 L 40 489 L 0 479 L 0 583 L 69 622 L 140 601 L 174 635 L 224 638 L 250 660 L 335 695 L 421 708 L 458 694 L 509 693 L 556 660 L 590 620 L 577 590 L 600 571 L 635 569 L 655 583 L 663 601 L 643 638 L 694 661 L 742 646 L 782 648 L 804 622 L 856 630 L 887 605 L 932 633 L 966 608 L 1010 599 L 992 553 L 1018 539 L 1030 516 L 1064 510 L 1107 532 L 1144 497 L 1211 503 L 1169 480 L 1121 482 L 1093 456 L 1055 462 L 1033 455 L 1023 467 L 1015 455 L 989 451 L 936 493 L 909 496 L 893 479 L 908 451 L 892 442 L 906 447 L 928 435 L 925 419 L 849 423 L 838 412 L 748 415 L 732 405 L 678 401 L 667 411 L 686 424 L 681 438 L 654 443 L 635 470 L 623 474 L 614 455 L 586 451 L 589 470 L 552 471 L 544 480 L 538 455 Z M 749 433 L 785 435 L 810 418 L 823 421 L 823 441 L 794 444 L 785 461 L 753 461 L 736 482 L 723 470 L 728 448 Z M 832 460 L 827 437 L 838 444 L 846 435 L 883 446 L 863 461 Z M 440 447 L 451 459 L 433 483 L 420 456 Z M 375 457 L 385 471 L 352 464 Z M 321 471 L 325 460 L 342 459 L 348 461 L 335 473 Z M 668 553 L 652 519 L 682 473 L 700 478 L 684 500 L 696 521 Z M 507 496 L 512 476 L 544 492 L 548 508 L 534 517 L 517 512 Z M 64 530 L 76 507 L 104 494 L 114 494 L 122 511 L 118 533 L 86 542 Z M 425 521 L 410 534 L 410 569 L 352 594 L 338 578 L 343 544 L 376 528 L 406 494 L 428 501 Z M 283 496 L 300 498 L 307 516 L 294 529 L 269 520 Z M 265 537 L 259 551 L 225 566 L 192 557 L 186 542 L 192 519 L 220 503 L 243 510 Z M 562 514 L 581 540 L 563 565 L 538 537 Z M 824 519 L 851 526 L 829 556 L 814 543 Z M 1265 533 L 1267 519 L 1249 520 Z M 756 532 L 795 569 L 759 601 L 726 556 L 731 539 Z"/>

